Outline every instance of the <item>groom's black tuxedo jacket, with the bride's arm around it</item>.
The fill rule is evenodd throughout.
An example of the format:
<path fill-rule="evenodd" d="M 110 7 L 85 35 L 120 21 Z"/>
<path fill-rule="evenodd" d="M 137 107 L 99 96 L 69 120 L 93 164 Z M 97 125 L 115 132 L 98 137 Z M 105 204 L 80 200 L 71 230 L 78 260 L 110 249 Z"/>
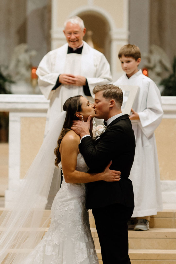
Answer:
<path fill-rule="evenodd" d="M 135 136 L 128 115 L 116 118 L 93 143 L 87 136 L 81 140 L 79 150 L 90 173 L 102 172 L 112 160 L 110 169 L 121 171 L 118 182 L 96 181 L 87 183 L 88 209 L 120 203 L 134 207 L 132 182 L 128 178 L 135 155 Z"/>

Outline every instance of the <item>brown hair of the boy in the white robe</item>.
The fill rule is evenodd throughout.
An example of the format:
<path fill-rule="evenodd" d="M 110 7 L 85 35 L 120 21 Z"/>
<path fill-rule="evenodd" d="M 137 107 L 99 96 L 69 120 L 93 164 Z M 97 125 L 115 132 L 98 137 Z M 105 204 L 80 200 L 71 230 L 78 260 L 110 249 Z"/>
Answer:
<path fill-rule="evenodd" d="M 124 55 L 125 57 L 132 57 L 135 60 L 141 58 L 140 49 L 136 45 L 127 44 L 124 45 L 118 53 L 118 58 L 120 59 Z"/>

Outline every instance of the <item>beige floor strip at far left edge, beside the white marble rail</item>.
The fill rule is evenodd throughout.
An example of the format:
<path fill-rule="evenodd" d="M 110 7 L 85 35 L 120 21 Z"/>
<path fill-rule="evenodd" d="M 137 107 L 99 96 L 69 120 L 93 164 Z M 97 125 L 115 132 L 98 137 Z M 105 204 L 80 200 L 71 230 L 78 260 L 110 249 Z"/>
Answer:
<path fill-rule="evenodd" d="M 8 188 L 8 143 L 0 143 L 0 196 Z"/>

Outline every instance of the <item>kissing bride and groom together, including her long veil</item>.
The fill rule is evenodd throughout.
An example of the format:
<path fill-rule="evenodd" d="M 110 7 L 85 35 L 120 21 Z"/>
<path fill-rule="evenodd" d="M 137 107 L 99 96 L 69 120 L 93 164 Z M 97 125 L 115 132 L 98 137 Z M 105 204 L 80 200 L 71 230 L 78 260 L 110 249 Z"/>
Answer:
<path fill-rule="evenodd" d="M 93 93 L 94 104 L 83 96 L 66 100 L 13 206 L 2 215 L 3 263 L 97 264 L 88 209 L 95 219 L 103 264 L 130 263 L 127 221 L 133 213 L 134 195 L 128 177 L 135 154 L 134 132 L 128 115 L 121 112 L 119 87 L 96 86 Z M 106 120 L 107 128 L 93 141 L 95 116 Z M 58 174 L 62 169 L 63 181 L 47 218 L 45 206 L 55 166 Z"/>

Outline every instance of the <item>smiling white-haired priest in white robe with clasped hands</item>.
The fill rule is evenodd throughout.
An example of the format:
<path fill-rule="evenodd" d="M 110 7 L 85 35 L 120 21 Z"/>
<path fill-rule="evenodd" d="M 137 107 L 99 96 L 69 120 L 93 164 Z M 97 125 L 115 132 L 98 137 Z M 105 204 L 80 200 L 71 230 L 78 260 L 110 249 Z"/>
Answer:
<path fill-rule="evenodd" d="M 66 99 L 83 95 L 91 102 L 97 84 L 112 82 L 105 56 L 83 41 L 83 20 L 78 16 L 67 19 L 63 32 L 67 43 L 47 53 L 36 71 L 41 92 L 50 100 L 45 134 L 63 110 Z"/>

